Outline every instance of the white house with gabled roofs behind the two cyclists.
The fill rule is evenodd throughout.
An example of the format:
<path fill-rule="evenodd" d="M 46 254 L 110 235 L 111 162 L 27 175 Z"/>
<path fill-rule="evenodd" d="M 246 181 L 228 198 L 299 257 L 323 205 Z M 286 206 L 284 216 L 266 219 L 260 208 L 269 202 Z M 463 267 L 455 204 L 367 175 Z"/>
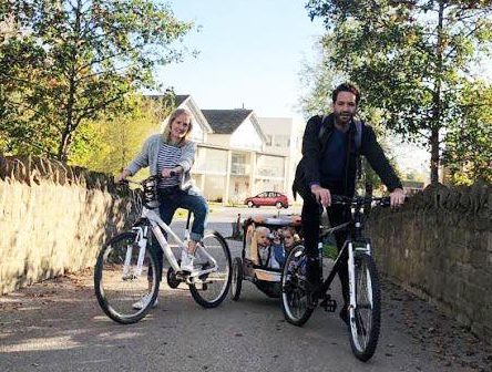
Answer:
<path fill-rule="evenodd" d="M 191 95 L 176 95 L 174 105 L 192 113 L 192 138 L 198 143 L 192 176 L 208 200 L 242 204 L 267 190 L 291 195 L 298 158 L 291 154 L 299 141 L 291 118 L 259 121 L 246 108 L 202 110 Z M 288 138 L 277 146 L 283 136 Z M 296 148 L 290 148 L 293 143 Z"/>

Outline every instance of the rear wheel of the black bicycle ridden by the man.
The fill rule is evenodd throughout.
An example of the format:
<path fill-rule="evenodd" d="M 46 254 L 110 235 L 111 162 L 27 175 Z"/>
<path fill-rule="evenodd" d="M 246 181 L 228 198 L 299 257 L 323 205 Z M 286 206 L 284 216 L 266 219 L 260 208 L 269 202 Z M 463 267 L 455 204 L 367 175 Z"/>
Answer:
<path fill-rule="evenodd" d="M 295 247 L 284 266 L 281 276 L 281 310 L 294 326 L 303 326 L 312 314 L 306 290 L 306 254 L 304 246 Z"/>

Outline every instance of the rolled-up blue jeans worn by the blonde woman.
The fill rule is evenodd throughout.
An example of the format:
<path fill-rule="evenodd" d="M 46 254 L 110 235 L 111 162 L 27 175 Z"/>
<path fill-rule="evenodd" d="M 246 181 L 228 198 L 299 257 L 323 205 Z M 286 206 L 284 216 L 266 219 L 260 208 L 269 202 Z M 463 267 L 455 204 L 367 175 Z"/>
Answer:
<path fill-rule="evenodd" d="M 158 189 L 158 214 L 166 225 L 171 224 L 177 208 L 187 209 L 193 213 L 189 238 L 199 241 L 203 238 L 208 215 L 207 200 L 201 195 L 189 195 L 186 192 L 183 192 L 178 186 Z M 163 252 L 155 239 L 153 246 L 155 247 L 154 251 L 157 256 L 158 272 L 162 273 Z"/>

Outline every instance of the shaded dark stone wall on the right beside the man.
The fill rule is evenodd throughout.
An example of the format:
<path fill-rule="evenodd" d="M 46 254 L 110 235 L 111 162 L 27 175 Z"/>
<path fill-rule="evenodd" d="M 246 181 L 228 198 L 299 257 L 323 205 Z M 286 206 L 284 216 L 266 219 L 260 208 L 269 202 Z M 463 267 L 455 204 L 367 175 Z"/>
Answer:
<path fill-rule="evenodd" d="M 380 271 L 490 340 L 492 187 L 428 187 L 368 220 Z"/>

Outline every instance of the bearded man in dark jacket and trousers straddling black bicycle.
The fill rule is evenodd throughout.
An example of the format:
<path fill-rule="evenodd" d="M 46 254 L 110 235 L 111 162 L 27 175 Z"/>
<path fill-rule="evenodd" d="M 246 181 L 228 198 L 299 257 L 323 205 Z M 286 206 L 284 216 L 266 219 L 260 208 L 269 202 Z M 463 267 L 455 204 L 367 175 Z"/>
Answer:
<path fill-rule="evenodd" d="M 312 116 L 307 122 L 303 138 L 303 158 L 297 166 L 293 185 L 294 195 L 299 193 L 304 199 L 301 221 L 308 257 L 308 281 L 311 285 L 314 301 L 321 285 L 318 259 L 319 218 L 322 211 L 320 206 L 327 208 L 332 226 L 349 220 L 347 207 L 331 206 L 331 195 L 353 196 L 357 154 L 366 156 L 388 187 L 391 207 L 398 207 L 404 200 L 401 183 L 378 144 L 375 132 L 370 126 L 362 123 L 358 125 L 353 121 L 360 100 L 357 87 L 349 83 L 341 84 L 332 92 L 331 100 L 330 115 Z M 345 238 L 346 232 L 336 235 L 339 250 Z M 348 256 L 338 272 L 345 301 L 340 317 L 346 323 L 349 302 L 347 258 Z"/>

